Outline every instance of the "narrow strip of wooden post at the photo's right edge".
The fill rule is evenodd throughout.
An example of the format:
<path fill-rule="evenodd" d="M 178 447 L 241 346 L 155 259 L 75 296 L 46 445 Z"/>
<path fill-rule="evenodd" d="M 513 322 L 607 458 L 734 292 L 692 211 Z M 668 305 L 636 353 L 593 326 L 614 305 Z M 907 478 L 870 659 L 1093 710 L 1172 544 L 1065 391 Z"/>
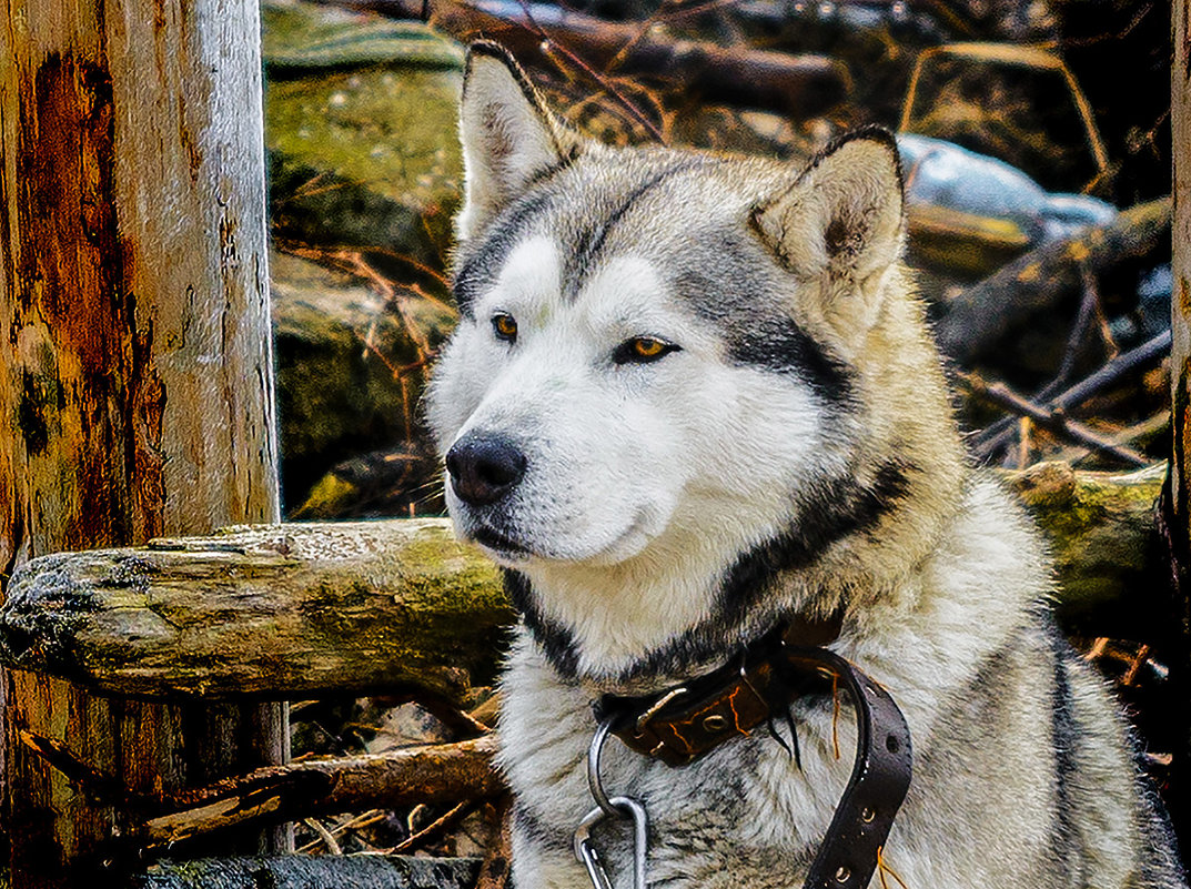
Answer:
<path fill-rule="evenodd" d="M 1184 701 L 1191 693 L 1191 0 L 1173 2 L 1174 64 L 1171 70 L 1171 130 L 1174 156 L 1174 288 L 1171 300 L 1171 390 L 1173 452 L 1168 488 L 1162 496 L 1162 524 L 1173 563 L 1174 602 L 1181 616 L 1181 644 L 1173 678 Z M 1181 707 L 1181 749 L 1174 751 L 1171 815 L 1183 849 L 1191 843 L 1191 715 Z"/>

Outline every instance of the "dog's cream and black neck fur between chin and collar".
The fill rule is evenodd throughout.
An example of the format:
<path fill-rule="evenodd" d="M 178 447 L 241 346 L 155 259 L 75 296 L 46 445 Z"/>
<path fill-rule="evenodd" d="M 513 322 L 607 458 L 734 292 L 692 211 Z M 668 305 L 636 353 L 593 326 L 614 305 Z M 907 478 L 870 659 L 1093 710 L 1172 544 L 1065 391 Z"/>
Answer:
<path fill-rule="evenodd" d="M 958 508 L 941 506 L 923 543 L 921 513 L 909 528 L 899 518 L 917 484 L 904 496 L 883 494 L 886 512 L 869 514 L 866 492 L 859 512 L 815 515 L 812 538 L 791 526 L 744 547 L 681 540 L 684 558 L 669 570 L 666 561 L 653 571 L 530 566 L 506 571 L 506 589 L 563 681 L 593 695 L 649 694 L 721 666 L 780 624 L 902 595 Z M 831 509 L 849 496 L 840 492 Z M 837 539 L 827 539 L 833 524 Z M 902 544 L 911 532 L 918 545 Z M 741 555 L 725 561 L 725 552 Z"/>

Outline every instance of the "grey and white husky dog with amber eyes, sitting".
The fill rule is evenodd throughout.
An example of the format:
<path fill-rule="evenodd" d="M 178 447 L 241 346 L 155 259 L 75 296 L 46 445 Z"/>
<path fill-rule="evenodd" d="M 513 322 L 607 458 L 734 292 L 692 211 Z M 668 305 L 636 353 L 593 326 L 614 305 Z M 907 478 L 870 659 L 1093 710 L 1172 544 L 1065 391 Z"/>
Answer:
<path fill-rule="evenodd" d="M 461 133 L 461 321 L 428 407 L 457 532 L 523 615 L 499 722 L 518 889 L 591 885 L 572 834 L 593 700 L 836 612 L 831 649 L 913 739 L 871 885 L 1185 885 L 1116 706 L 1048 615 L 1036 531 L 966 464 L 899 261 L 892 138 L 805 169 L 610 148 L 492 44 Z M 607 793 L 649 815 L 649 885 L 800 887 L 852 770 L 838 706 L 798 700 L 777 739 L 685 768 L 609 740 Z M 600 829 L 631 885 L 629 832 Z"/>

